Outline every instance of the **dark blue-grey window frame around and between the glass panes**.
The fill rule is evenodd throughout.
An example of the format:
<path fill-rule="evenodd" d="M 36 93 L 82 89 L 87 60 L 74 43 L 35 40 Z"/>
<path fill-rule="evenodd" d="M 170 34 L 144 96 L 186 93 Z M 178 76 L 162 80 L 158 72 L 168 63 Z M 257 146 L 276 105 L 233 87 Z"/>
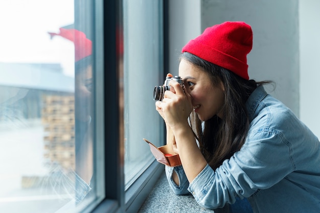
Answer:
<path fill-rule="evenodd" d="M 119 58 L 116 54 L 118 41 L 117 28 L 123 26 L 122 0 L 95 1 L 94 55 L 96 84 L 96 170 L 98 178 L 104 177 L 105 198 L 92 212 L 136 212 L 153 189 L 164 165 L 155 159 L 146 171 L 125 191 L 124 156 L 121 147 L 124 143 L 119 129 Z M 168 68 L 168 0 L 163 0 L 164 28 L 164 70 Z M 111 70 L 111 71 L 110 71 Z M 163 76 L 165 71 L 162 70 Z M 107 74 L 106 74 L 107 73 Z M 101 86 L 103 85 L 103 86 Z M 115 89 L 110 89 L 115 88 Z M 101 99 L 103 97 L 103 99 Z M 102 115 L 100 112 L 103 112 Z M 112 113 L 109 113 L 112 112 Z M 163 132 L 165 136 L 165 132 Z M 165 137 L 164 137 L 165 138 Z M 103 141 L 103 143 L 101 143 Z M 111 143 L 110 143 L 111 142 Z M 116 143 L 112 143 L 116 142 Z M 163 145 L 165 142 L 163 142 Z M 101 147 L 104 147 L 103 149 Z M 103 162 L 102 164 L 99 162 Z M 101 170 L 102 169 L 102 170 Z M 100 171 L 100 174 L 99 174 Z M 102 172 L 101 172 L 102 171 Z M 89 210 L 89 208 L 87 209 Z"/>

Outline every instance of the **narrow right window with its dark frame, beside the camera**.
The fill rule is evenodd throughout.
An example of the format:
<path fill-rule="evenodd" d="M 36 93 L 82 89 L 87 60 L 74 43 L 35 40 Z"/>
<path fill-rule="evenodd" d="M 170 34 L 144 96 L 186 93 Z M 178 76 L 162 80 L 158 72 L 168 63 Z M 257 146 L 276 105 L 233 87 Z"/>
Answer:
<path fill-rule="evenodd" d="M 104 28 L 114 29 L 118 36 L 114 38 L 112 31 L 104 35 L 104 41 L 108 41 L 104 44 L 104 63 L 109 68 L 117 67 L 117 73 L 108 73 L 107 88 L 119 88 L 120 92 L 106 89 L 109 104 L 105 118 L 112 128 L 106 129 L 105 161 L 112 162 L 107 170 L 114 175 L 106 174 L 107 199 L 96 211 L 104 212 L 108 206 L 107 212 L 117 208 L 121 212 L 135 212 L 164 172 L 143 138 L 156 146 L 164 144 L 164 123 L 155 111 L 152 95 L 154 87 L 164 81 L 165 1 L 104 3 L 108 20 Z M 118 18 L 110 20 L 110 14 L 114 13 Z M 117 45 L 113 45 L 115 42 Z M 122 50 L 123 54 L 119 55 Z M 117 53 L 117 59 L 112 59 L 112 52 Z M 119 116 L 109 112 L 119 112 Z"/>

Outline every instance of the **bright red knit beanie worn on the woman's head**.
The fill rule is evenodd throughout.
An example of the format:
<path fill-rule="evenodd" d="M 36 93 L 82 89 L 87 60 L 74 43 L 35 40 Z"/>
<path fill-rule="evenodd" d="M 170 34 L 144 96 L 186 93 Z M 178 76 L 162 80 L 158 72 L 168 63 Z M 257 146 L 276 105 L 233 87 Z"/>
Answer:
<path fill-rule="evenodd" d="M 224 67 L 244 79 L 249 79 L 247 54 L 252 49 L 253 33 L 245 22 L 223 22 L 211 26 L 190 40 L 182 52 Z"/>

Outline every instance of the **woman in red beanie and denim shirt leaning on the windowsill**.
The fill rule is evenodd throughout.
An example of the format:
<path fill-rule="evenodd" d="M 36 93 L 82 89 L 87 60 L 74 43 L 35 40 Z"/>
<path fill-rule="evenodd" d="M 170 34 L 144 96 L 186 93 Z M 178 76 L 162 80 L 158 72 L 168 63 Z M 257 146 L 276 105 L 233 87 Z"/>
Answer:
<path fill-rule="evenodd" d="M 169 184 L 205 208 L 248 198 L 254 212 L 316 212 L 320 142 L 267 82 L 249 80 L 252 40 L 248 24 L 224 22 L 182 48 L 184 88 L 170 81 L 155 104 L 182 164 L 166 167 Z"/>

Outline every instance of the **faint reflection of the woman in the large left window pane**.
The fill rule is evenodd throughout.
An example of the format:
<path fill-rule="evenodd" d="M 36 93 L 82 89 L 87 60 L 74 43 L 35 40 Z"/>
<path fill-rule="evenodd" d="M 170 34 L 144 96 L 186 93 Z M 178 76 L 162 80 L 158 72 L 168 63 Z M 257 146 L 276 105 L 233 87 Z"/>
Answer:
<path fill-rule="evenodd" d="M 54 169 L 61 178 L 66 194 L 75 195 L 75 203 L 94 195 L 93 141 L 92 141 L 92 84 L 93 56 L 92 41 L 76 29 L 60 28 L 59 33 L 49 33 L 51 38 L 61 36 L 75 46 L 75 171 L 70 171 L 70 178 L 59 169 Z M 52 175 L 52 177 L 56 177 Z M 50 177 L 50 178 L 52 178 Z M 75 180 L 75 182 L 74 182 Z M 51 180 L 55 182 L 56 180 Z M 69 187 L 69 188 L 68 188 Z M 64 208 L 69 207 L 68 205 Z M 64 208 L 60 209 L 62 212 Z"/>

